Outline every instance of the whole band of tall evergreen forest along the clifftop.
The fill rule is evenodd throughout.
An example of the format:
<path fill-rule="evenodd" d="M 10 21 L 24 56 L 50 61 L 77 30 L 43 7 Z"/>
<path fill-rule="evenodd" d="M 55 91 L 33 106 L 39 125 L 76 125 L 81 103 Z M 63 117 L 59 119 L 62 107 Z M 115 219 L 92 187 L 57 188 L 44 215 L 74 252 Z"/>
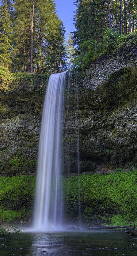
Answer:
<path fill-rule="evenodd" d="M 52 74 L 84 68 L 136 31 L 135 0 L 76 0 L 75 4 L 76 31 L 65 42 L 65 27 L 53 0 L 2 0 L 1 72 Z"/>

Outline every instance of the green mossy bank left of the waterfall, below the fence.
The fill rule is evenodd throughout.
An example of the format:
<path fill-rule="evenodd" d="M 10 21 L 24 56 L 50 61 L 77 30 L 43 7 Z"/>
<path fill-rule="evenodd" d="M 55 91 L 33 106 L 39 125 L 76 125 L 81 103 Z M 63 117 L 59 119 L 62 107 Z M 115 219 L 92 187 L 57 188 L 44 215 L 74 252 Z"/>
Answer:
<path fill-rule="evenodd" d="M 31 218 L 35 176 L 0 178 L 0 219 L 25 222 Z"/>

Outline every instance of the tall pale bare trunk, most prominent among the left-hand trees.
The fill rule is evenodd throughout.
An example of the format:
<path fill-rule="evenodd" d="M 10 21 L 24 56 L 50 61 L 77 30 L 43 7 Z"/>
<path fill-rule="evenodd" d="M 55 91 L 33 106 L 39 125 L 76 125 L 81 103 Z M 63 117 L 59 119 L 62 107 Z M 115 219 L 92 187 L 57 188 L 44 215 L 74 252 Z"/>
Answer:
<path fill-rule="evenodd" d="M 33 1 L 33 11 L 30 11 L 30 73 L 33 73 L 33 25 L 34 25 L 34 1 Z"/>

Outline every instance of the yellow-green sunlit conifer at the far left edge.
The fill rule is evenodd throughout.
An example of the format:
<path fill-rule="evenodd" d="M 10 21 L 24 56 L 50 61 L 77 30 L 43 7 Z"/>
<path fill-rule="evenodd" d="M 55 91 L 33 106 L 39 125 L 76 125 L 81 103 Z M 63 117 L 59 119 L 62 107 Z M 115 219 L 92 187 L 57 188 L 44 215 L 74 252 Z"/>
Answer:
<path fill-rule="evenodd" d="M 12 22 L 7 3 L 0 7 L 0 62 L 5 68 L 11 64 Z"/>

